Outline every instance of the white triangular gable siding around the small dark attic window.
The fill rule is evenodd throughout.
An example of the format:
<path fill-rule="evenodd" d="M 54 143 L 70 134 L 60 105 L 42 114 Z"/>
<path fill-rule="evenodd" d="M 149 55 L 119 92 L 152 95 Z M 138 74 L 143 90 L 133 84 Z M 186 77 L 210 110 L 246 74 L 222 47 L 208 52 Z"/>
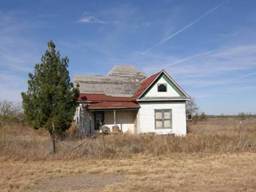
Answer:
<path fill-rule="evenodd" d="M 167 92 L 158 92 L 157 84 L 166 84 Z M 179 97 L 180 95 L 168 84 L 168 82 L 161 77 L 158 82 L 147 92 L 145 97 Z"/>

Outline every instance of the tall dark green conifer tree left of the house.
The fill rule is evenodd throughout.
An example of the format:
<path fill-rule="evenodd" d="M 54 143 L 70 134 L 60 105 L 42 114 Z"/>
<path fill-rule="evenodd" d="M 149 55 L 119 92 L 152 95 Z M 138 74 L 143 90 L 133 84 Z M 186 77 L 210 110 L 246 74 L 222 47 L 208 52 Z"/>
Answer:
<path fill-rule="evenodd" d="M 52 41 L 41 57 L 41 63 L 29 73 L 27 92 L 22 92 L 22 107 L 26 121 L 33 128 L 46 128 L 51 133 L 67 130 L 72 123 L 77 106 L 79 89 L 70 82 L 67 70 L 69 59 L 61 58 Z"/>

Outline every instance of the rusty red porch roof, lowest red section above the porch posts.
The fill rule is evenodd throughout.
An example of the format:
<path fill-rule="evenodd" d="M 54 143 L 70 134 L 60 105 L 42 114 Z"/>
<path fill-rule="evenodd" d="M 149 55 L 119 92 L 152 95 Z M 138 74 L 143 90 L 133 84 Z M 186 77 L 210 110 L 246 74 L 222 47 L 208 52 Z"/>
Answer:
<path fill-rule="evenodd" d="M 140 108 L 140 105 L 134 102 L 101 102 L 88 105 L 89 109 L 102 108 Z"/>

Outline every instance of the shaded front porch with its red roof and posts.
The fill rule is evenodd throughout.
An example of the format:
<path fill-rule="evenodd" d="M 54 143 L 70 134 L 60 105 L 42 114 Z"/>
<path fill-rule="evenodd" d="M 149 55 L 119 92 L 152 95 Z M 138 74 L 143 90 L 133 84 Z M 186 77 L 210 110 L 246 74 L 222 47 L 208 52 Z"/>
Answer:
<path fill-rule="evenodd" d="M 123 133 L 137 133 L 137 113 L 139 105 L 132 102 L 101 102 L 83 106 L 77 120 L 79 128 L 86 135 L 108 127 L 111 132 L 118 126 Z"/>

